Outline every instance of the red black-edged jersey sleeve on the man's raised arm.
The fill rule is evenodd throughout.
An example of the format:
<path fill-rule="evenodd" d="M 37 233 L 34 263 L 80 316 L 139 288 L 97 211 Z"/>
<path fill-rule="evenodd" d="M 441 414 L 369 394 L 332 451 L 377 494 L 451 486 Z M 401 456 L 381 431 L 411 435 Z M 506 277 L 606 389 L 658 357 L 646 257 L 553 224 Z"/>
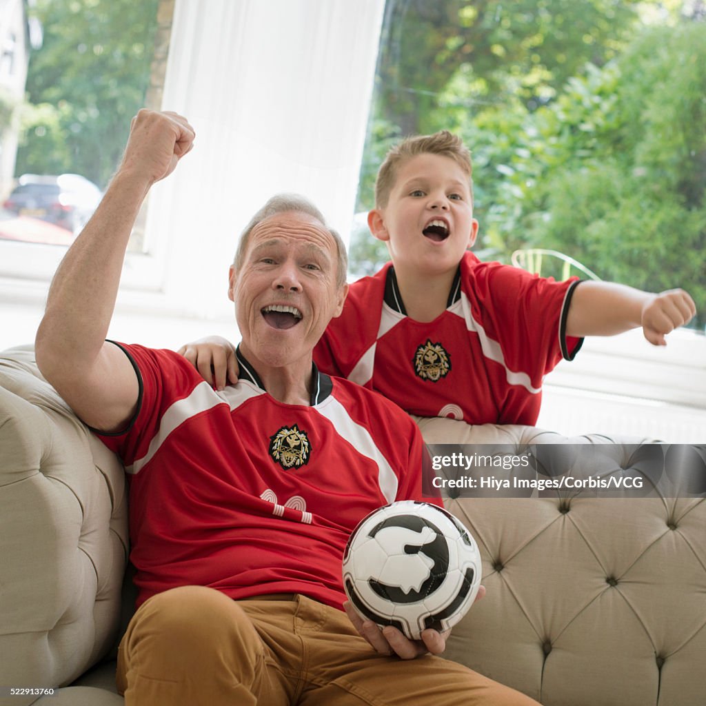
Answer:
<path fill-rule="evenodd" d="M 97 433 L 100 440 L 130 467 L 147 452 L 152 438 L 160 433 L 162 417 L 176 400 L 189 396 L 195 388 L 193 370 L 169 350 L 116 343 L 130 359 L 138 376 L 138 407 L 126 429 L 117 433 Z M 201 381 L 203 385 L 208 385 Z M 162 433 L 164 429 L 162 429 Z"/>

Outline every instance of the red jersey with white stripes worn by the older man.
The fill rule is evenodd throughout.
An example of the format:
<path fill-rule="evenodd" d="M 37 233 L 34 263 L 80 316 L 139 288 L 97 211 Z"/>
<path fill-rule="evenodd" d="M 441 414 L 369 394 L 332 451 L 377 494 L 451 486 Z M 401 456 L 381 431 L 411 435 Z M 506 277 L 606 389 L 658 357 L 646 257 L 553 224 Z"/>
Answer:
<path fill-rule="evenodd" d="M 101 438 L 131 474 L 138 605 L 203 585 L 236 599 L 302 593 L 340 609 L 343 551 L 359 520 L 424 499 L 417 426 L 316 366 L 311 407 L 287 405 L 240 354 L 239 383 L 216 392 L 174 352 L 121 347 L 138 373 L 138 412 Z"/>

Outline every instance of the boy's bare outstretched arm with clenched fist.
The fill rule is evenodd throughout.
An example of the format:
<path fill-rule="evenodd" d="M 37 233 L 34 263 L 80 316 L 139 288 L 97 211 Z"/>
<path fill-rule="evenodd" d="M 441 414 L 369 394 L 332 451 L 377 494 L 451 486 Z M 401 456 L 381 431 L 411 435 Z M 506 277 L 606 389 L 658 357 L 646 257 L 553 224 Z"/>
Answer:
<path fill-rule="evenodd" d="M 666 334 L 695 313 L 694 301 L 683 289 L 651 294 L 611 282 L 581 282 L 569 306 L 566 335 L 612 336 L 642 326 L 652 345 L 664 346 Z"/>

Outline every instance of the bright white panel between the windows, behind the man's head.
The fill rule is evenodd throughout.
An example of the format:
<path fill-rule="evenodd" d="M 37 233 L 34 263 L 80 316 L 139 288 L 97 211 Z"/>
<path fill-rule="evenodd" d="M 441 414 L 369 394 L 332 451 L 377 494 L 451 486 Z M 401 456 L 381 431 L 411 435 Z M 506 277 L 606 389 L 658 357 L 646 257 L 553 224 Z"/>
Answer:
<path fill-rule="evenodd" d="M 169 308 L 232 311 L 237 234 L 279 191 L 311 198 L 347 237 L 384 0 L 177 0 L 164 109 L 196 145 L 157 184 L 148 248 Z"/>

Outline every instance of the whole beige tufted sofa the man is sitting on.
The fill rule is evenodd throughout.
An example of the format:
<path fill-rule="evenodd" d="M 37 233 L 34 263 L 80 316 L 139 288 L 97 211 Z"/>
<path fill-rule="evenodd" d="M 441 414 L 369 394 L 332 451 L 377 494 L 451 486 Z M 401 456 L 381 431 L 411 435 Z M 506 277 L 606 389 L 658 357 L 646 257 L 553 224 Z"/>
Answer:
<path fill-rule="evenodd" d="M 593 444 L 608 472 L 644 441 L 419 424 L 431 444 Z M 481 546 L 487 595 L 447 657 L 546 706 L 706 704 L 704 500 L 563 493 L 448 507 Z M 0 354 L 0 706 L 123 703 L 111 659 L 130 605 L 126 514 L 119 462 L 31 349 Z M 61 688 L 8 695 L 22 686 Z"/>

